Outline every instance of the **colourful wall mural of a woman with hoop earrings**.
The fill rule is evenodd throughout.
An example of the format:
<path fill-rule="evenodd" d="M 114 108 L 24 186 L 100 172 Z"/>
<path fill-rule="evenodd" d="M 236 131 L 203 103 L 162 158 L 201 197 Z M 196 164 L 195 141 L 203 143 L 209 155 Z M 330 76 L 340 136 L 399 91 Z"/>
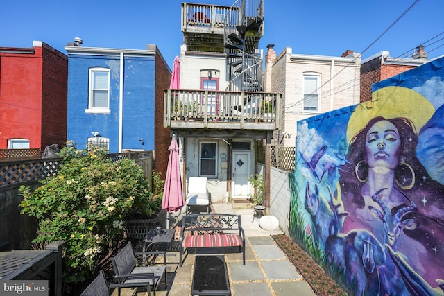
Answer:
<path fill-rule="evenodd" d="M 444 295 L 443 66 L 298 122 L 291 236 L 350 295 Z"/>

